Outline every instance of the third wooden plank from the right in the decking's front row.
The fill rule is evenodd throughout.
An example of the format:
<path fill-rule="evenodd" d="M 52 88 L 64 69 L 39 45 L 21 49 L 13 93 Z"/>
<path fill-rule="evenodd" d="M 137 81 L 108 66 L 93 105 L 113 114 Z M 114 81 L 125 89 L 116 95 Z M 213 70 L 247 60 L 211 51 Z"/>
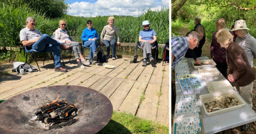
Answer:
<path fill-rule="evenodd" d="M 135 115 L 139 107 L 140 96 L 143 95 L 146 87 L 147 83 L 136 81 L 118 111 Z"/>

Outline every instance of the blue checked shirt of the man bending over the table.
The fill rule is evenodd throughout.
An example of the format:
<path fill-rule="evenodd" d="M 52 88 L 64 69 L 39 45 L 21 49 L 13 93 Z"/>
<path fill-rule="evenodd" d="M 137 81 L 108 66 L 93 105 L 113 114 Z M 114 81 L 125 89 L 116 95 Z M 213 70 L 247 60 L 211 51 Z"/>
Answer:
<path fill-rule="evenodd" d="M 171 54 L 176 57 L 172 62 L 171 68 L 174 68 L 184 58 L 188 49 L 188 37 L 171 37 Z"/>

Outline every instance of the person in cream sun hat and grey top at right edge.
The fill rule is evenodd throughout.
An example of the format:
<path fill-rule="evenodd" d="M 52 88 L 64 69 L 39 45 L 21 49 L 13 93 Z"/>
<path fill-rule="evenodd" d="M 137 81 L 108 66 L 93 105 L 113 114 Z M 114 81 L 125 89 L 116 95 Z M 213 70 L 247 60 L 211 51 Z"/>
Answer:
<path fill-rule="evenodd" d="M 248 58 L 248 61 L 253 67 L 253 58 L 256 58 L 256 39 L 250 35 L 248 32 L 250 30 L 246 26 L 246 22 L 244 20 L 238 20 L 235 22 L 234 29 L 231 31 L 235 31 L 237 38 L 235 42 L 240 45 Z"/>

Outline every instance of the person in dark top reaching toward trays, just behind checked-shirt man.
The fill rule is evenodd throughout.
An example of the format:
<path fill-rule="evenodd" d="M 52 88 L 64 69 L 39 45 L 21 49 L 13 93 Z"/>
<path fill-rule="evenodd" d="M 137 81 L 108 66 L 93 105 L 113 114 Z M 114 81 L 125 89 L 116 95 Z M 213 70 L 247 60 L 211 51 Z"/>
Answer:
<path fill-rule="evenodd" d="M 202 26 L 197 26 L 193 31 L 198 32 L 198 34 L 201 37 L 201 40 L 199 41 L 199 44 L 197 47 L 195 47 L 193 50 L 188 49 L 187 53 L 185 54 L 185 58 L 193 58 L 198 65 L 201 65 L 199 62 L 198 57 L 201 57 L 202 55 L 202 46 L 205 43 L 205 33 L 204 33 L 204 28 Z M 187 34 L 189 34 L 188 32 Z"/>

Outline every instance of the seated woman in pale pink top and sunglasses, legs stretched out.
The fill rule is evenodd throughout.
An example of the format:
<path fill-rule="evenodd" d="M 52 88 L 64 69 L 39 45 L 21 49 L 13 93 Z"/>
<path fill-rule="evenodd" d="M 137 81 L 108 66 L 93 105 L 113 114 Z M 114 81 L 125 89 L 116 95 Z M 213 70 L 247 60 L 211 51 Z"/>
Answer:
<path fill-rule="evenodd" d="M 62 43 L 63 45 L 68 45 L 68 46 L 70 46 L 70 49 L 73 49 L 78 67 L 85 68 L 85 66 L 83 64 L 85 64 L 87 66 L 90 65 L 90 63 L 88 63 L 81 54 L 80 44 L 78 42 L 75 42 L 75 40 L 70 40 L 69 36 L 67 35 L 67 31 L 65 30 L 65 28 L 67 26 L 67 22 L 63 19 L 63 20 L 59 21 L 58 25 L 60 26 L 60 28 L 58 28 L 55 31 L 55 40 Z M 71 51 L 68 51 L 68 52 L 71 54 Z M 83 64 L 80 63 L 79 58 L 81 58 L 81 62 Z"/>

